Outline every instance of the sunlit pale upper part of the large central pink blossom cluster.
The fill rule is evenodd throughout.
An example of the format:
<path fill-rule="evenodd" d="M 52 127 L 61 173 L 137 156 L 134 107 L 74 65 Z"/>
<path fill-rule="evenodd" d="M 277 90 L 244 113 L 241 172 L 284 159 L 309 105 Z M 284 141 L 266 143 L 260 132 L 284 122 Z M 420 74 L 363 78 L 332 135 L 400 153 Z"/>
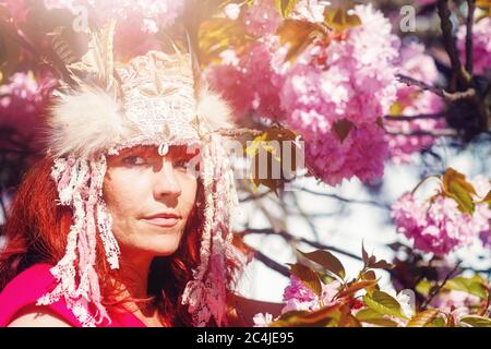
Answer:
<path fill-rule="evenodd" d="M 342 119 L 361 125 L 375 122 L 395 100 L 399 40 L 372 5 L 357 5 L 354 12 L 362 25 L 326 47 L 313 46 L 286 74 L 283 107 L 292 124 L 302 120 L 306 131 L 310 118 L 301 115 L 312 110 L 327 128 Z"/>

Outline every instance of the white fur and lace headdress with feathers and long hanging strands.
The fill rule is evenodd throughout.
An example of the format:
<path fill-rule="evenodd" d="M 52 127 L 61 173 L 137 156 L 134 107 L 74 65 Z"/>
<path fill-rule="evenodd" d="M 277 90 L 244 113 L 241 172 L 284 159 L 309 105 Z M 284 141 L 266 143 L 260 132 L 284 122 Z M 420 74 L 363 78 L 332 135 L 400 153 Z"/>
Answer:
<path fill-rule="evenodd" d="M 51 174 L 59 204 L 72 208 L 73 225 L 65 255 L 51 269 L 58 284 L 38 304 L 62 298 L 84 326 L 110 320 L 94 268 L 97 232 L 110 267 L 119 268 L 119 246 L 103 200 L 106 156 L 135 145 L 156 145 L 165 155 L 170 145 L 200 144 L 205 201 L 201 264 L 182 303 L 189 305 L 194 325 L 204 326 L 212 316 L 221 325 L 227 262 L 243 262 L 231 244 L 230 210 L 237 205 L 232 172 L 214 132 L 229 125 L 229 108 L 203 84 L 196 88 L 192 57 L 177 48 L 171 55 L 148 51 L 124 64 L 115 62 L 113 31 L 111 22 L 89 33 L 87 53 L 67 64 L 70 84 L 62 81 L 56 92 L 48 153 L 55 158 Z"/>

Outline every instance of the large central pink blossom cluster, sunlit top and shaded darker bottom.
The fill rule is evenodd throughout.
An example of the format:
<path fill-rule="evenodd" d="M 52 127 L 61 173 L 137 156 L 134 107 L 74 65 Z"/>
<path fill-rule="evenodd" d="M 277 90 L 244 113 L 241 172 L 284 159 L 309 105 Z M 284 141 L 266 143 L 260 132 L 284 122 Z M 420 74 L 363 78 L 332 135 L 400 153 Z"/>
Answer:
<path fill-rule="evenodd" d="M 370 4 L 354 12 L 362 25 L 327 47 L 311 47 L 287 71 L 280 92 L 287 124 L 306 140 L 308 164 L 332 185 L 383 176 L 387 142 L 376 122 L 397 92 L 399 40 L 391 23 Z M 352 123 L 344 141 L 334 132 L 342 120 Z"/>

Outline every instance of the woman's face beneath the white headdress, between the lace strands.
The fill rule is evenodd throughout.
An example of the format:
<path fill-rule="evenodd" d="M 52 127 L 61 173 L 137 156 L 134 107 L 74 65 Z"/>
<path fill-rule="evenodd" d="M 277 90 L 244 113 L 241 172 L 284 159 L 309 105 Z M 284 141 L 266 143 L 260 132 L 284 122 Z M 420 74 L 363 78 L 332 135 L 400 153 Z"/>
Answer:
<path fill-rule="evenodd" d="M 108 157 L 103 192 L 123 255 L 176 252 L 196 198 L 196 177 L 187 170 L 192 157 L 185 146 L 171 146 L 166 156 L 136 146 Z"/>

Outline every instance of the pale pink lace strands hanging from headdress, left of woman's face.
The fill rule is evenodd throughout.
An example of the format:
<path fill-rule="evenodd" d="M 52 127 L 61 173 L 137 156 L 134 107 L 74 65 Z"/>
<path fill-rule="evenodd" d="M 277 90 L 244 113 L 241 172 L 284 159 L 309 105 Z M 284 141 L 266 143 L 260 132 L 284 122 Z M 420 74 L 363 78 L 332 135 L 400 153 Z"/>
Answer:
<path fill-rule="evenodd" d="M 104 318 L 110 322 L 101 304 L 99 280 L 94 268 L 96 263 L 96 226 L 111 267 L 118 267 L 119 246 L 110 231 L 111 220 L 101 198 L 106 173 L 106 158 L 98 157 L 59 158 L 55 160 L 51 177 L 57 183 L 59 204 L 73 209 L 73 225 L 70 227 L 64 256 L 51 268 L 57 279 L 56 288 L 38 299 L 37 304 L 47 305 L 63 298 L 82 326 L 95 326 Z M 97 222 L 96 222 L 97 215 Z M 79 261 L 75 268 L 75 261 Z M 79 285 L 76 285 L 79 280 Z M 93 316 L 88 304 L 95 305 Z"/>

